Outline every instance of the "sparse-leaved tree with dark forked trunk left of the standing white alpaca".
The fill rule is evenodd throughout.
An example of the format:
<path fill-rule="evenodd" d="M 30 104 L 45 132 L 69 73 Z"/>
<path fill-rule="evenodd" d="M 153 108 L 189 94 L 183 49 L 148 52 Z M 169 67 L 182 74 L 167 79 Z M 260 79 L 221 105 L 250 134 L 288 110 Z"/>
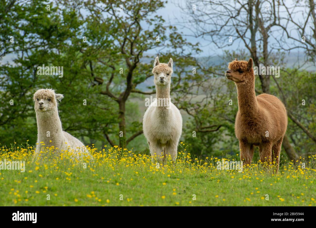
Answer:
<path fill-rule="evenodd" d="M 125 147 L 143 133 L 140 122 L 133 123 L 133 132 L 126 130 L 126 103 L 130 95 L 155 93 L 154 90 L 145 91 L 137 87 L 152 76 L 154 58 L 147 53 L 157 51 L 162 61 L 172 57 L 178 68 L 180 62 L 188 61 L 186 58 L 189 59 L 191 53 L 196 53 L 198 48 L 197 45 L 185 41 L 175 27 L 166 26 L 163 18 L 157 15 L 156 11 L 163 7 L 160 0 L 109 0 L 85 5 L 90 12 L 86 21 L 93 25 L 88 26 L 85 31 L 92 34 L 87 38 L 88 43 L 100 43 L 100 39 L 106 37 L 111 45 L 89 45 L 83 50 L 86 57 L 84 62 L 89 66 L 94 81 L 98 82 L 98 87 L 102 88 L 100 95 L 117 103 L 119 132 L 112 137 L 119 136 L 119 146 Z M 100 33 L 100 30 L 105 33 Z M 106 30 L 111 30 L 111 33 Z M 97 31 L 100 36 L 94 36 Z M 102 51 L 98 51 L 98 48 L 102 48 Z M 175 85 L 179 87 L 179 83 L 176 82 Z M 115 144 L 111 135 L 105 132 L 105 136 L 111 145 Z"/>

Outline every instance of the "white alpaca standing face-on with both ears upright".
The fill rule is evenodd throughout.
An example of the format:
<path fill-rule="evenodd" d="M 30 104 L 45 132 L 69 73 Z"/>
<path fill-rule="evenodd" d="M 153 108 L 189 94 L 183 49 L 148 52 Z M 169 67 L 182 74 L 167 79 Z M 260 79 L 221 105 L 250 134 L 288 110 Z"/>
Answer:
<path fill-rule="evenodd" d="M 143 118 L 143 132 L 149 144 L 149 150 L 154 159 L 164 162 L 170 154 L 173 161 L 177 158 L 177 149 L 182 133 L 182 116 L 179 109 L 170 101 L 170 82 L 173 73 L 173 60 L 169 63 L 159 63 L 155 59 L 154 83 L 156 99 L 150 104 Z M 165 102 L 165 105 L 162 103 Z M 163 159 L 161 159 L 161 154 Z"/>

